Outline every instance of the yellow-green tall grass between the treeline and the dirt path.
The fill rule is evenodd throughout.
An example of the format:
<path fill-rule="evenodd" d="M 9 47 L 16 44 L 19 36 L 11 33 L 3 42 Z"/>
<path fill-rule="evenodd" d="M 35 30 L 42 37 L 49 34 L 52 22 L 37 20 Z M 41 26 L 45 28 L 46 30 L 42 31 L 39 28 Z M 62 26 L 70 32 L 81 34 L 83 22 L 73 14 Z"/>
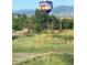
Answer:
<path fill-rule="evenodd" d="M 70 34 L 70 33 L 69 33 Z M 64 34 L 35 34 L 13 40 L 13 52 L 73 52 L 73 35 Z"/>

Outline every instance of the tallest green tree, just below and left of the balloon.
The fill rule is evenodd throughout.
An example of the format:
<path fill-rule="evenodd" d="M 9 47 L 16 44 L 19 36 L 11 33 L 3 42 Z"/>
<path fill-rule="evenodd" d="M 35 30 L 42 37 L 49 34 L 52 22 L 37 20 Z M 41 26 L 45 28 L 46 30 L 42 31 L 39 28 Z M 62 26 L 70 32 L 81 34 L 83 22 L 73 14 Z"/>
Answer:
<path fill-rule="evenodd" d="M 34 29 L 36 32 L 41 32 L 43 29 L 47 29 L 48 15 L 42 11 L 36 10 L 32 21 L 34 22 Z"/>

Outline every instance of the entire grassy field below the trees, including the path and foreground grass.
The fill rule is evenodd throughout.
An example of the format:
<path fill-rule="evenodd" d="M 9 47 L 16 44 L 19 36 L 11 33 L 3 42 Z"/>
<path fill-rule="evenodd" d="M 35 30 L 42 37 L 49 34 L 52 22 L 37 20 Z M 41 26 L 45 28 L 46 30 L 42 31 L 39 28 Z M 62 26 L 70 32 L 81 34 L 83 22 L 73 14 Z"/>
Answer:
<path fill-rule="evenodd" d="M 74 63 L 73 30 L 54 34 L 22 35 L 12 43 L 13 65 L 73 65 Z M 31 56 L 34 57 L 30 58 Z"/>

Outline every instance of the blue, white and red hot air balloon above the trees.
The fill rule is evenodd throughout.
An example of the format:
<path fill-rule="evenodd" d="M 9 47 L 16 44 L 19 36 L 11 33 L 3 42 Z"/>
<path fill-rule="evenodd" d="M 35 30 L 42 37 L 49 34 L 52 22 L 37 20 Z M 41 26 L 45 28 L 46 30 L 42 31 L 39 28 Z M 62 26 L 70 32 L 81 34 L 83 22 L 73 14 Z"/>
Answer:
<path fill-rule="evenodd" d="M 52 9 L 53 9 L 53 2 L 50 0 L 41 0 L 37 7 L 37 10 L 47 14 L 51 12 Z"/>

